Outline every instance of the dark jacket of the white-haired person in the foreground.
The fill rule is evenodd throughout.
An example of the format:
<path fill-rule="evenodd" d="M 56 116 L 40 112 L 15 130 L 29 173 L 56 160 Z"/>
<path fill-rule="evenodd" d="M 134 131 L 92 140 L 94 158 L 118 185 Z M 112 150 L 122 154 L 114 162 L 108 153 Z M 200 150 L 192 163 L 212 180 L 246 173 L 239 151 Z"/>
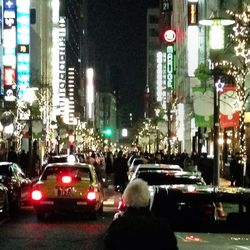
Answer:
<path fill-rule="evenodd" d="M 104 236 L 105 250 L 177 250 L 177 240 L 164 220 L 148 208 L 127 208 Z"/>

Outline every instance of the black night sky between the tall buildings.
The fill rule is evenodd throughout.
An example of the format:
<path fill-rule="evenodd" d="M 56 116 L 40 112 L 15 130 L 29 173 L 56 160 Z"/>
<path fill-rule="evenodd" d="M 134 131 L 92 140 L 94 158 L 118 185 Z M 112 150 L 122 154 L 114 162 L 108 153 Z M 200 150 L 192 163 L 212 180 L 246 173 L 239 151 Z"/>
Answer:
<path fill-rule="evenodd" d="M 90 0 L 88 5 L 88 34 L 95 44 L 95 60 L 109 64 L 109 88 L 119 93 L 119 106 L 128 106 L 134 120 L 143 117 L 146 13 L 157 2 Z"/>

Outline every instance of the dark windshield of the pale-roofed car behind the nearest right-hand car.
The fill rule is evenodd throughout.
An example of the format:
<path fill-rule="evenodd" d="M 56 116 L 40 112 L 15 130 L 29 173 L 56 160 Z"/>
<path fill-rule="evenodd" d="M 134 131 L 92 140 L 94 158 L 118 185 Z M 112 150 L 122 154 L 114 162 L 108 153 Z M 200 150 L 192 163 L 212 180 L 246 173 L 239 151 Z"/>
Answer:
<path fill-rule="evenodd" d="M 171 171 L 140 171 L 138 178 L 145 180 L 148 185 L 171 185 L 171 184 L 204 184 L 202 179 L 193 175 L 176 175 Z"/>

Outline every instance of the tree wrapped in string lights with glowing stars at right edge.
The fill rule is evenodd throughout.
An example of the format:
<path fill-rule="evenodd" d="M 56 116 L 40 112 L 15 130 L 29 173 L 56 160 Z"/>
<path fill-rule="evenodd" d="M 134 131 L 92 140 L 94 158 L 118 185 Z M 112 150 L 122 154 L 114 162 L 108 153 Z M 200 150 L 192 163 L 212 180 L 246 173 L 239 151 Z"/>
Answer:
<path fill-rule="evenodd" d="M 215 66 L 222 67 L 227 75 L 232 76 L 236 83 L 236 92 L 240 104 L 239 144 L 241 163 L 246 163 L 246 131 L 245 131 L 245 102 L 248 97 L 246 90 L 246 76 L 250 72 L 250 44 L 249 27 L 250 12 L 242 13 L 228 11 L 235 19 L 235 24 L 230 34 L 233 44 L 234 56 L 229 60 L 217 63 Z"/>

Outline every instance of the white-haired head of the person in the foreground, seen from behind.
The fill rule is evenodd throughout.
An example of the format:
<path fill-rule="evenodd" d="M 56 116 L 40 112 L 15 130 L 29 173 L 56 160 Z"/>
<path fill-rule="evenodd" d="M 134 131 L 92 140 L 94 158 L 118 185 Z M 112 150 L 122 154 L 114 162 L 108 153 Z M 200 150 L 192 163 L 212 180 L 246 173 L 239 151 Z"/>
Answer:
<path fill-rule="evenodd" d="M 142 179 L 135 179 L 130 182 L 123 192 L 123 199 L 127 207 L 148 207 L 150 193 L 148 184 Z"/>

